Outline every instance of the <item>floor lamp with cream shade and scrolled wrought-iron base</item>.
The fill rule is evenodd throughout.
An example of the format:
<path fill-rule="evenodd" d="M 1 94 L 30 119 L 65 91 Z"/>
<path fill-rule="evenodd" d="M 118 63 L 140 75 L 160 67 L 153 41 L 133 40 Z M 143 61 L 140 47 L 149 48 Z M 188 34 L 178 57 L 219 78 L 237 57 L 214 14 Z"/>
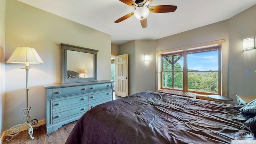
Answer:
<path fill-rule="evenodd" d="M 34 136 L 32 136 L 34 132 L 33 127 L 37 125 L 38 120 L 34 119 L 29 121 L 28 113 L 31 107 L 28 107 L 28 70 L 31 69 L 29 64 L 43 64 L 44 62 L 34 48 L 17 47 L 6 63 L 26 64 L 25 68 L 22 68 L 26 70 L 26 108 L 20 110 L 21 112 L 24 111 L 24 123 L 11 127 L 7 131 L 7 136 L 10 136 L 11 138 L 7 138 L 5 141 L 8 142 L 12 140 L 14 136 L 18 135 L 20 133 L 20 126 L 28 126 L 28 134 L 30 135 L 30 138 L 34 140 Z"/>

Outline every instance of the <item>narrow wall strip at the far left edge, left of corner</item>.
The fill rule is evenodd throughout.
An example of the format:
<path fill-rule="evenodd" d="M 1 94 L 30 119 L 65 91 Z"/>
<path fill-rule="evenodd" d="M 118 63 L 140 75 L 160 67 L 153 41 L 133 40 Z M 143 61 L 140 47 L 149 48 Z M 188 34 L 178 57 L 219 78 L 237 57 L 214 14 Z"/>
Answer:
<path fill-rule="evenodd" d="M 5 89 L 5 3 L 6 0 L 0 0 L 0 130 L 1 135 L 3 132 L 3 120 L 4 120 L 4 89 Z"/>

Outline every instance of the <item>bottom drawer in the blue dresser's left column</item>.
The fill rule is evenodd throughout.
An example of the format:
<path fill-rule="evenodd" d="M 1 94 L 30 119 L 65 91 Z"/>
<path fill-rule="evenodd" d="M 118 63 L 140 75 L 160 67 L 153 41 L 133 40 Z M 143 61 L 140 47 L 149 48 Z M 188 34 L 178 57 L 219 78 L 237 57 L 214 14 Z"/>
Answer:
<path fill-rule="evenodd" d="M 69 119 L 72 116 L 76 115 L 82 115 L 88 110 L 88 104 L 86 105 L 80 105 L 78 107 L 75 107 L 73 109 L 61 109 L 61 110 L 56 110 L 52 113 L 52 121 L 53 124 L 55 122 L 60 122 L 62 120 Z"/>

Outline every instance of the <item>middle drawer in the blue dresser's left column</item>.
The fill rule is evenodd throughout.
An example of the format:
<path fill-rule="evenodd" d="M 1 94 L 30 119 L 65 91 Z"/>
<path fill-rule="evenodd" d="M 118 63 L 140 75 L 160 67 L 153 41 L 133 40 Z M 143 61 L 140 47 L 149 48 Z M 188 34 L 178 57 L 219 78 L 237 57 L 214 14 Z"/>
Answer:
<path fill-rule="evenodd" d="M 64 96 L 62 98 L 54 98 L 52 100 L 52 110 L 72 107 L 82 103 L 88 103 L 88 94 L 78 94 L 72 96 Z"/>

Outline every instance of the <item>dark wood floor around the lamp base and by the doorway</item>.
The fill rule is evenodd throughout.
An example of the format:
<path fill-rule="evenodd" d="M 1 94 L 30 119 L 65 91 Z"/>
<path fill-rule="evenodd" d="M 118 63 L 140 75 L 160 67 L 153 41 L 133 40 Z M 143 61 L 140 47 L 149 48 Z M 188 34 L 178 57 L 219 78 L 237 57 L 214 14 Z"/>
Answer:
<path fill-rule="evenodd" d="M 118 98 L 122 97 L 113 94 L 113 100 Z M 32 134 L 32 136 L 35 136 L 34 140 L 30 139 L 28 131 L 25 130 L 20 132 L 17 136 L 14 136 L 10 142 L 4 141 L 2 144 L 65 144 L 70 132 L 75 125 L 76 121 L 71 122 L 69 124 L 63 125 L 61 128 L 50 134 L 46 134 L 45 125 L 38 126 L 38 128 L 34 128 L 34 133 Z M 6 138 L 10 137 L 6 136 L 4 140 L 6 140 Z"/>

